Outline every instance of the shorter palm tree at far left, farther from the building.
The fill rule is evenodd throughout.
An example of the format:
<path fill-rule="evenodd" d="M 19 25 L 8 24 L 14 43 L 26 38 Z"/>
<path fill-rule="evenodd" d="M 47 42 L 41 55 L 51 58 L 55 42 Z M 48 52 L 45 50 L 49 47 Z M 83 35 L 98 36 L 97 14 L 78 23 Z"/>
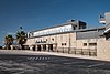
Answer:
<path fill-rule="evenodd" d="M 4 36 L 4 45 L 7 50 L 11 49 L 10 45 L 13 44 L 13 40 L 14 40 L 13 36 L 10 34 Z"/>

